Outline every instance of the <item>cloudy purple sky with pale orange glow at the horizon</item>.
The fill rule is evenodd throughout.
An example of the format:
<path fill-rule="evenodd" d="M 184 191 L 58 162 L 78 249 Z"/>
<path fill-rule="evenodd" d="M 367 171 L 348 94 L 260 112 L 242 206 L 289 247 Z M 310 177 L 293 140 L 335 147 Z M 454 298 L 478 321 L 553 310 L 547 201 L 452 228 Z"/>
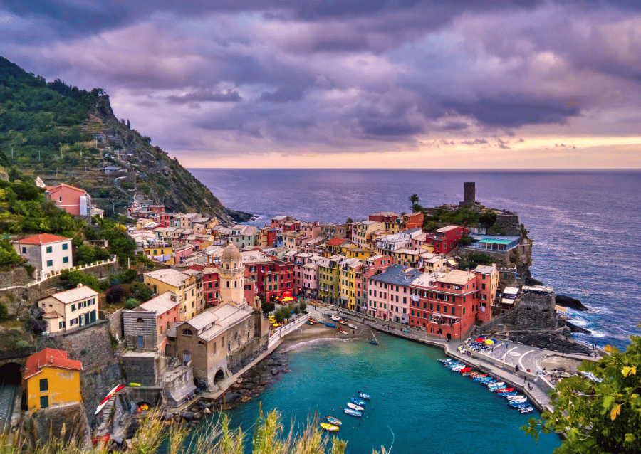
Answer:
<path fill-rule="evenodd" d="M 641 1 L 0 0 L 185 167 L 641 168 Z"/>

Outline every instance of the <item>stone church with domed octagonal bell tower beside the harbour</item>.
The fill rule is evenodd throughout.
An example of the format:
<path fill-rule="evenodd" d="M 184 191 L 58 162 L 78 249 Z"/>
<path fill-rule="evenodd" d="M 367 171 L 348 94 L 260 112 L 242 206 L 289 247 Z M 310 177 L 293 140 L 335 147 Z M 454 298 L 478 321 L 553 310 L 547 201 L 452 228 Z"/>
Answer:
<path fill-rule="evenodd" d="M 194 380 L 210 391 L 267 347 L 269 323 L 259 298 L 244 298 L 244 272 L 240 251 L 230 243 L 220 260 L 219 305 L 175 325 L 168 337 L 167 354 L 191 364 Z"/>

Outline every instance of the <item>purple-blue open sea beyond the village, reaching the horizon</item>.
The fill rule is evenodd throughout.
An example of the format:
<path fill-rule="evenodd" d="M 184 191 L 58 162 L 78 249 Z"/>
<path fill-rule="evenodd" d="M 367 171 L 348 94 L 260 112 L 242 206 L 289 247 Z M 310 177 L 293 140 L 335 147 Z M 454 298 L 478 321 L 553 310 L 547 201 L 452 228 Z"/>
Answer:
<path fill-rule="evenodd" d="M 518 213 L 533 239 L 534 278 L 578 298 L 589 312 L 568 320 L 575 338 L 620 349 L 641 334 L 641 171 L 443 171 L 371 169 L 191 169 L 224 206 L 258 216 L 344 222 L 377 211 L 457 204 L 464 181 L 476 201 Z"/>

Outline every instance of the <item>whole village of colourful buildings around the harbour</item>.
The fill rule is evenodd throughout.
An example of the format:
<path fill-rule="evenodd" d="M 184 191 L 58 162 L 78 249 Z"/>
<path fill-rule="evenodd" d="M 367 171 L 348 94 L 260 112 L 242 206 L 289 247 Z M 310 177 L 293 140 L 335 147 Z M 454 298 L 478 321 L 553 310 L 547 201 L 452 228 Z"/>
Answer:
<path fill-rule="evenodd" d="M 102 214 L 82 189 L 62 184 L 46 194 L 76 216 Z M 115 429 L 125 431 L 131 413 L 149 406 L 177 409 L 198 393 L 224 391 L 230 377 L 272 352 L 303 322 L 291 301 L 300 303 L 296 314 L 334 307 L 401 334 L 412 328 L 449 342 L 511 314 L 521 299 L 536 307 L 542 297 L 543 312 L 551 310 L 554 319 L 543 324 L 556 327 L 552 289 L 524 285 L 521 277 L 531 241 L 518 216 L 481 206 L 474 194 L 474 183 L 467 183 L 465 200 L 449 209 L 486 213 L 500 225 L 494 231 L 466 222 L 428 232 L 426 211 L 385 211 L 346 223 L 275 216 L 262 228 L 224 226 L 200 213 L 167 213 L 135 196 L 127 208 L 127 234 L 153 269 L 127 272 L 149 297 L 104 310 L 100 302 L 110 290 L 79 283 L 34 301 L 31 312 L 42 332 L 37 351 L 23 358 L 21 379 L 12 381 L 13 394 L 3 388 L 13 399 L 11 406 L 4 405 L 11 398 L 2 401 L 6 426 L 18 423 L 24 389 L 36 427 L 84 421 L 87 433 L 90 428 L 93 435 L 124 439 Z M 13 246 L 33 266 L 33 278 L 78 269 L 71 267 L 71 238 L 41 234 Z M 117 265 L 114 260 L 103 263 Z M 283 306 L 293 320 L 267 317 Z M 69 408 L 75 408 L 73 416 Z"/>

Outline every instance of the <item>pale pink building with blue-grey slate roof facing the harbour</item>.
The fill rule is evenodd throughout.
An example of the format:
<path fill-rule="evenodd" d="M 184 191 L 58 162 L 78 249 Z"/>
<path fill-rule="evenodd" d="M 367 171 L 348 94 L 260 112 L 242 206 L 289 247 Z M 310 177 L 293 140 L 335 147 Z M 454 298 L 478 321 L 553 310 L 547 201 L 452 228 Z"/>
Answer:
<path fill-rule="evenodd" d="M 390 322 L 410 321 L 410 285 L 422 273 L 404 265 L 390 265 L 368 280 L 368 315 Z"/>

